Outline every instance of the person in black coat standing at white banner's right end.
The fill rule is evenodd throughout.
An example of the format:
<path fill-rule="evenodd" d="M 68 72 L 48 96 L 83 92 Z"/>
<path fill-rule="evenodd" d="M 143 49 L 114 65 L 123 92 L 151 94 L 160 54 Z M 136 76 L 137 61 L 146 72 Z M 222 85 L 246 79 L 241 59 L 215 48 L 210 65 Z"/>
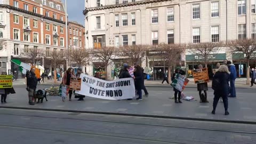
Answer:
<path fill-rule="evenodd" d="M 139 98 L 137 100 L 142 100 L 142 91 L 141 89 L 143 88 L 143 69 L 139 66 L 136 65 L 134 66 L 134 78 L 135 78 L 135 89 L 137 90 L 137 94 L 139 94 Z"/>

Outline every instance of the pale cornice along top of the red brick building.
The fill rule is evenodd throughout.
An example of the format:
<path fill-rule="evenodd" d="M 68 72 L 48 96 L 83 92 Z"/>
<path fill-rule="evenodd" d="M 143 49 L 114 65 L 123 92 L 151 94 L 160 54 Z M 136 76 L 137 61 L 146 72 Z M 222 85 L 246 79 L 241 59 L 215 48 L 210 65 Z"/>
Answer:
<path fill-rule="evenodd" d="M 26 13 L 26 14 L 29 14 L 29 15 L 34 15 L 36 17 L 47 19 L 47 20 L 51 20 L 51 21 L 55 21 L 55 22 L 58 22 L 58 23 L 66 24 L 65 21 L 61 21 L 61 20 L 58 20 L 58 19 L 53 19 L 53 18 L 50 18 L 50 17 L 46 17 L 44 15 L 41 15 L 41 14 L 38 14 L 38 13 L 34 13 L 34 12 L 30 12 L 30 11 L 26 11 L 26 10 L 23 10 L 23 9 L 19 9 L 17 7 L 14 7 L 14 6 L 6 5 L 6 4 L 0 4 L 0 7 L 4 7 L 6 9 L 10 9 L 10 10 Z"/>

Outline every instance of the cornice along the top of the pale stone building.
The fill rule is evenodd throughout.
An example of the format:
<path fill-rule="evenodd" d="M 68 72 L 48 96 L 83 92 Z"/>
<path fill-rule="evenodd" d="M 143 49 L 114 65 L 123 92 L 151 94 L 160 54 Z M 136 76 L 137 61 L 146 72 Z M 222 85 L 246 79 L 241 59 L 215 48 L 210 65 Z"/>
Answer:
<path fill-rule="evenodd" d="M 138 1 L 126 4 L 113 4 L 113 5 L 106 5 L 106 6 L 99 6 L 99 7 L 90 7 L 83 11 L 85 15 L 89 11 L 98 11 L 98 10 L 106 10 L 106 9 L 113 9 L 117 7 L 125 7 L 125 6 L 133 6 L 133 5 L 141 5 L 141 4 L 149 4 L 149 3 L 158 3 L 158 2 L 165 2 L 165 1 L 173 1 L 173 0 L 145 0 L 145 1 Z"/>

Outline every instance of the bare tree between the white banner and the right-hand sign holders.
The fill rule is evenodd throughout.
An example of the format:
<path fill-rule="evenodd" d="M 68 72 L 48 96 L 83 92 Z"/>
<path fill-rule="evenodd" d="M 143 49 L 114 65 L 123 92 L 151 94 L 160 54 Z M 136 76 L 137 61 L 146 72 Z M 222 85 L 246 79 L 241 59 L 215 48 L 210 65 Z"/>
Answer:
<path fill-rule="evenodd" d="M 184 52 L 186 45 L 185 44 L 161 44 L 158 46 L 159 54 L 166 62 L 168 66 L 168 80 L 171 82 L 171 71 L 173 71 L 174 63 L 180 61 L 180 56 Z M 165 71 L 164 71 L 165 72 Z"/>

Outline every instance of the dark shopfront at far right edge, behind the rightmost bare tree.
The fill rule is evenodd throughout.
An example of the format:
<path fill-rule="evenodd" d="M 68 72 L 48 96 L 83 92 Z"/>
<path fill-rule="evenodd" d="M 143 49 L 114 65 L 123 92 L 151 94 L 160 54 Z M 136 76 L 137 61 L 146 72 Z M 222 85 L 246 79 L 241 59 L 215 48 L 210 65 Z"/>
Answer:
<path fill-rule="evenodd" d="M 237 77 L 246 77 L 247 63 L 244 53 L 233 53 L 233 64 L 236 67 Z M 256 53 L 253 53 L 250 59 L 250 68 L 256 67 Z"/>

